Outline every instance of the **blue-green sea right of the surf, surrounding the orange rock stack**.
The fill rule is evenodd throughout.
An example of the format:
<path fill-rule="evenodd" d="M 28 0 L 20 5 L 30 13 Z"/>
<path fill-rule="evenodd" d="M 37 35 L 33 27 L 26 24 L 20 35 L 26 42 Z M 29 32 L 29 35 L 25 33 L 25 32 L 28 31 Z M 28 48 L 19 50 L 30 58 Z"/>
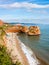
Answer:
<path fill-rule="evenodd" d="M 28 26 L 29 25 L 33 24 L 28 24 Z M 28 36 L 26 34 L 20 34 L 19 38 L 25 45 L 29 46 L 34 51 L 38 58 L 49 64 L 49 25 L 36 25 L 40 27 L 40 36 Z"/>

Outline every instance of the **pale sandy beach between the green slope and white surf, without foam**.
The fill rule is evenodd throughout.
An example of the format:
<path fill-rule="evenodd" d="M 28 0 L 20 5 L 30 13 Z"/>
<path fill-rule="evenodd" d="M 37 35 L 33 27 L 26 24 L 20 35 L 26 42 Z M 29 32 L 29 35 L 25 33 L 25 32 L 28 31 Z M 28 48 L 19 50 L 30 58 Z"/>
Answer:
<path fill-rule="evenodd" d="M 29 65 L 28 59 L 21 48 L 21 42 L 19 41 L 16 32 L 6 32 L 4 41 L 5 46 L 7 47 L 7 53 L 10 53 L 10 58 L 14 64 L 16 61 L 19 61 L 22 65 Z"/>

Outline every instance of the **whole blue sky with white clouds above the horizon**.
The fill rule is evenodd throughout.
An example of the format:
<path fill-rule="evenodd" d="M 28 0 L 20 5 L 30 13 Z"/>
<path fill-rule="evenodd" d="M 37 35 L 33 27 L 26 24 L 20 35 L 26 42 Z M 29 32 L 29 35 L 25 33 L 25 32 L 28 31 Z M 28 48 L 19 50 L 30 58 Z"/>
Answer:
<path fill-rule="evenodd" d="M 49 0 L 0 0 L 0 19 L 49 23 Z"/>

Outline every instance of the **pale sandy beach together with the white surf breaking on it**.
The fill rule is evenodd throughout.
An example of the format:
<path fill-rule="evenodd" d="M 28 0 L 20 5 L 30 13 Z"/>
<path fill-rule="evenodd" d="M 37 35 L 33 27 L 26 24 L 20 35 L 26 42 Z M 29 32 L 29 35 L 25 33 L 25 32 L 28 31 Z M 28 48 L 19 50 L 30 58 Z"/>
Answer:
<path fill-rule="evenodd" d="M 4 41 L 14 63 L 19 60 L 23 65 L 39 65 L 36 56 L 18 39 L 16 33 L 7 33 Z"/>

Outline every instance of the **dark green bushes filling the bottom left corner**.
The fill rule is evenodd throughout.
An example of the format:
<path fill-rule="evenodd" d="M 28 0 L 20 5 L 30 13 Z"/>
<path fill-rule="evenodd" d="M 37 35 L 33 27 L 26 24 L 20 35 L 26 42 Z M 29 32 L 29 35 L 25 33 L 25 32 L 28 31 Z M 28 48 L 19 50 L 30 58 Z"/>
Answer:
<path fill-rule="evenodd" d="M 21 65 L 21 63 L 16 61 L 16 64 L 13 64 L 9 54 L 6 52 L 6 48 L 0 45 L 0 65 Z"/>

